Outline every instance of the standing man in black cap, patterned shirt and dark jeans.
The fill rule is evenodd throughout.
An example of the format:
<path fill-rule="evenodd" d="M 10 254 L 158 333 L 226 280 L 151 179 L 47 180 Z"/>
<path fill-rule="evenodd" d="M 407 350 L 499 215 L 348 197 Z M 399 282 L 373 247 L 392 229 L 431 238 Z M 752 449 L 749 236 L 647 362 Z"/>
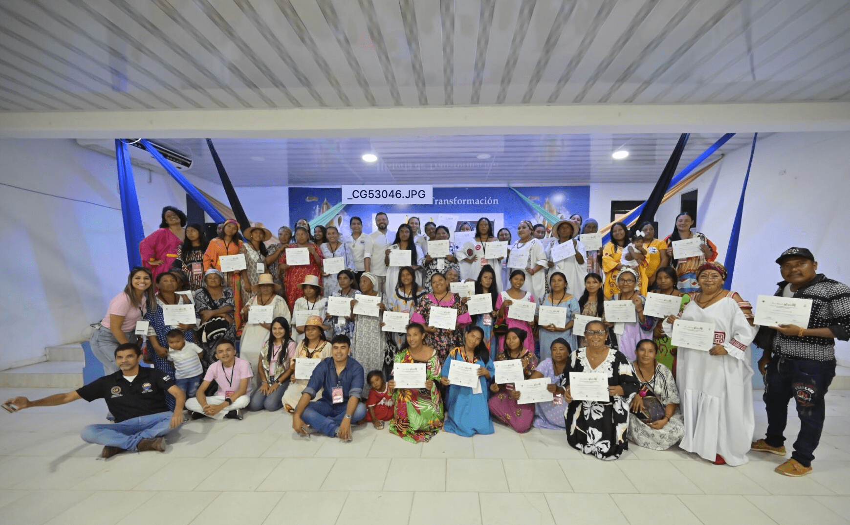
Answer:
<path fill-rule="evenodd" d="M 782 280 L 774 296 L 812 301 L 808 326 L 762 326 L 755 343 L 764 350 L 758 368 L 764 375 L 768 432 L 752 449 L 785 455 L 788 401 L 796 401 L 800 433 L 791 460 L 776 467 L 785 476 L 812 471 L 814 449 L 824 429 L 824 396 L 836 376 L 835 340 L 850 339 L 850 287 L 818 273 L 806 248 L 789 248 L 776 259 Z"/>

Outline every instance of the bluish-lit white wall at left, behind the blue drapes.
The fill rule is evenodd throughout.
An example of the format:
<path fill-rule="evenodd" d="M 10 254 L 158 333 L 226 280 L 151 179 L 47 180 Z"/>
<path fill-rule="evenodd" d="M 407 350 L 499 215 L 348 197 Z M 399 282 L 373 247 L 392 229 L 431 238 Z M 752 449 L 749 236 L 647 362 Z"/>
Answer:
<path fill-rule="evenodd" d="M 145 234 L 185 208 L 165 174 L 133 167 Z M 190 177 L 191 178 L 191 177 Z M 211 195 L 224 192 L 191 178 Z M 70 139 L 0 140 L 0 370 L 88 337 L 127 283 L 116 161 Z M 42 193 L 36 193 L 42 192 Z M 42 195 L 51 194 L 51 195 Z"/>

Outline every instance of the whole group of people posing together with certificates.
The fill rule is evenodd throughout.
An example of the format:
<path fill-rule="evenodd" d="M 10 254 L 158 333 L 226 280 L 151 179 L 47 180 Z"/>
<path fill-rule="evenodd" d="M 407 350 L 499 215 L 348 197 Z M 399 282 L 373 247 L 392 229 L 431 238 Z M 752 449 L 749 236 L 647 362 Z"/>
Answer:
<path fill-rule="evenodd" d="M 489 434 L 498 421 L 516 432 L 563 430 L 571 447 L 603 460 L 618 458 L 631 441 L 658 450 L 678 444 L 714 463 L 739 466 L 751 449 L 785 454 L 793 397 L 802 430 L 791 460 L 777 471 L 811 471 L 824 395 L 835 375 L 835 339 L 850 337 L 850 288 L 818 274 L 807 249 L 791 248 L 776 260 L 784 280 L 775 295 L 811 299 L 808 326 L 758 327 L 751 304 L 726 288 L 716 247 L 693 230 L 688 213 L 677 217 L 666 240 L 658 239 L 653 223 L 631 234 L 615 223 L 610 242 L 598 250 L 587 249 L 580 237 L 597 233 L 593 219 L 565 218 L 553 225 L 551 238 L 542 224 L 522 221 L 512 243 L 511 232 L 494 235 L 482 217 L 467 225 L 472 241 L 450 243 L 448 255 L 439 257 L 429 254 L 428 242 L 449 240 L 445 226 L 426 223 L 420 234 L 419 219 L 411 217 L 393 237 L 384 213 L 372 234 L 363 232 L 359 217 L 350 224 L 352 235 L 340 239 L 336 228 L 311 232 L 302 220 L 294 235 L 283 227 L 279 244 L 267 245 L 272 235 L 262 224 L 240 234 L 238 223 L 228 220 L 207 242 L 200 225 L 186 226 L 183 212 L 165 208 L 161 229 L 140 245 L 144 267 L 130 272 L 91 338 L 105 376 L 77 392 L 8 404 L 20 409 L 105 398 L 116 424 L 83 432 L 87 441 L 105 445 L 105 457 L 116 449 L 161 449 L 163 442 L 145 440 L 160 439 L 186 417 L 241 419 L 246 410 L 286 409 L 294 430 L 306 437 L 318 432 L 348 440 L 353 425 L 371 422 L 422 443 L 441 431 Z M 702 254 L 674 258 L 669 241 L 692 238 L 700 239 Z M 497 241 L 507 241 L 507 256 L 488 253 L 488 243 Z M 565 243 L 572 249 L 558 248 Z M 288 264 L 290 248 L 306 248 L 309 262 Z M 410 251 L 410 262 L 390 264 L 395 250 Z M 570 255 L 553 256 L 564 252 Z M 245 269 L 223 272 L 221 257 L 239 254 Z M 337 257 L 343 269 L 326 273 L 323 261 Z M 490 310 L 470 313 L 470 295 L 461 287 L 453 291 L 455 283 L 471 283 L 464 290 L 487 296 Z M 678 312 L 645 315 L 648 291 L 679 297 Z M 344 300 L 330 308 L 332 297 Z M 634 320 L 606 320 L 609 301 L 633 305 Z M 533 319 L 514 313 L 520 302 L 535 305 Z M 169 306 L 189 303 L 194 324 L 166 325 Z M 255 322 L 257 307 L 271 310 L 271 322 Z M 538 322 L 537 307 L 562 308 L 564 323 Z M 404 332 L 384 330 L 386 313 L 405 314 Z M 580 319 L 587 322 L 574 330 Z M 673 347 L 680 321 L 713 324 L 713 347 Z M 754 340 L 764 351 L 759 368 L 768 411 L 767 435 L 755 442 Z M 140 359 L 153 368 L 139 367 Z M 500 361 L 510 363 L 497 366 Z M 397 386 L 399 364 L 421 365 L 422 387 Z M 477 383 L 453 384 L 452 369 L 470 365 L 477 366 Z M 513 381 L 500 379 L 497 369 L 507 365 L 516 367 Z M 604 375 L 608 397 L 574 398 L 570 374 L 581 372 Z M 547 383 L 551 400 L 524 402 L 527 380 Z M 137 392 L 144 403 L 130 399 Z M 132 403 L 138 406 L 124 406 Z"/>

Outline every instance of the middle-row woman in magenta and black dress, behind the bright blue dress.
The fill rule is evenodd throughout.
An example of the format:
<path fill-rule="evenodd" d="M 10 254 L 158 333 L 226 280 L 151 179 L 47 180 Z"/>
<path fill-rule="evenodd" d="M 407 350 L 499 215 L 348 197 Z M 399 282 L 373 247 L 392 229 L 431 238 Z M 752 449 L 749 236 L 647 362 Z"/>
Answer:
<path fill-rule="evenodd" d="M 432 308 L 439 308 L 433 310 Z M 454 310 L 455 322 L 449 327 L 433 326 L 442 325 L 437 322 L 437 319 L 432 319 L 432 314 L 439 315 L 439 320 L 443 321 L 450 319 L 452 313 L 447 309 Z M 433 274 L 431 276 L 431 293 L 422 297 L 419 306 L 411 316 L 411 321 L 420 323 L 426 331 L 425 345 L 433 347 L 437 351 L 437 356 L 440 361 L 444 361 L 449 355 L 449 351 L 454 347 L 459 347 L 463 344 L 463 335 L 461 329 L 473 322 L 469 317 L 467 305 L 461 301 L 461 297 L 449 290 L 449 283 L 443 274 Z M 432 325 L 433 324 L 433 325 Z"/>

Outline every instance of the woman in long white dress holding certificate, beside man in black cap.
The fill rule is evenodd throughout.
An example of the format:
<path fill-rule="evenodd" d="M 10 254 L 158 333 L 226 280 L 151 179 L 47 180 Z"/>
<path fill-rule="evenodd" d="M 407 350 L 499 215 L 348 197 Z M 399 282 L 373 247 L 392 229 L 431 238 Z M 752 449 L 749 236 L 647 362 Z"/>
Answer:
<path fill-rule="evenodd" d="M 696 280 L 700 292 L 691 296 L 678 318 L 670 316 L 664 323 L 665 333 L 678 347 L 677 383 L 685 418 L 679 446 L 717 465 L 744 465 L 756 426 L 752 307 L 736 292 L 723 289 L 726 268 L 719 262 L 697 268 Z"/>

